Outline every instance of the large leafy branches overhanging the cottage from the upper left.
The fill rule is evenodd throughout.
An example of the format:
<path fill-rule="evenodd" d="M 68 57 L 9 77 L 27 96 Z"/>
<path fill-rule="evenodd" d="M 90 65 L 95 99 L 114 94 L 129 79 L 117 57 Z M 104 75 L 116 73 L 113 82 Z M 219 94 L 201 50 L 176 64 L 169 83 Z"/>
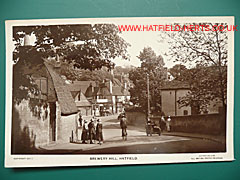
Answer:
<path fill-rule="evenodd" d="M 15 42 L 13 60 L 15 65 L 27 64 L 30 67 L 42 64 L 43 59 L 61 57 L 62 62 L 66 62 L 66 65 L 70 64 L 70 69 L 92 71 L 104 66 L 112 69 L 114 68 L 112 60 L 116 57 L 128 59 L 126 49 L 129 44 L 119 36 L 119 33 L 114 24 L 15 26 L 13 28 Z M 25 35 L 36 36 L 34 46 L 22 46 Z M 24 73 L 24 68 L 21 68 L 23 67 L 19 65 L 14 68 L 14 73 L 18 72 L 22 76 L 15 77 L 29 82 L 21 84 L 21 82 L 14 81 L 14 89 L 28 91 L 33 88 L 30 82 L 31 74 Z M 68 75 L 75 76 L 76 74 Z M 16 97 L 18 94 L 14 94 L 14 98 L 19 99 Z M 21 98 L 27 98 L 27 96 Z"/>

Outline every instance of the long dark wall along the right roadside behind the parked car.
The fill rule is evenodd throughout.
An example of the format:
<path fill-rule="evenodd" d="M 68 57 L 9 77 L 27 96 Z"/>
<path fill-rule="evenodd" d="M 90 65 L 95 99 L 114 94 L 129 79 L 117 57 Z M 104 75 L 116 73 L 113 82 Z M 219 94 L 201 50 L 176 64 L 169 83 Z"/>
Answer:
<path fill-rule="evenodd" d="M 144 128 L 146 115 L 142 112 L 126 112 L 129 124 Z M 190 116 L 172 116 L 171 131 L 202 134 L 224 134 L 226 132 L 226 120 L 223 114 L 203 114 Z M 160 116 L 151 117 L 152 120 L 159 122 Z M 166 119 L 166 117 L 165 117 Z M 161 123 L 162 130 L 165 124 Z"/>

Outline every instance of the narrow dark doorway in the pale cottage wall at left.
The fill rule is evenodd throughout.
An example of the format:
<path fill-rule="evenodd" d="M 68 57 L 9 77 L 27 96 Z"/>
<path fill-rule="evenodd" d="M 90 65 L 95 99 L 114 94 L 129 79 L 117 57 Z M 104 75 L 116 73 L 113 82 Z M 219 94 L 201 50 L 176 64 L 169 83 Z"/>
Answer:
<path fill-rule="evenodd" d="M 49 141 L 56 141 L 56 103 L 49 103 L 50 121 L 49 121 Z"/>

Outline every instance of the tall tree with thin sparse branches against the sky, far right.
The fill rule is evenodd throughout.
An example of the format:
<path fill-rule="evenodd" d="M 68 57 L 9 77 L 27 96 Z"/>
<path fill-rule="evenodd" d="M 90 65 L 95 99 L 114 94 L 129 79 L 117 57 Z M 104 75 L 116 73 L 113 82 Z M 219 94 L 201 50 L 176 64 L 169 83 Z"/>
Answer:
<path fill-rule="evenodd" d="M 185 24 L 186 26 L 189 24 Z M 174 31 L 165 33 L 170 50 L 167 53 L 176 62 L 195 64 L 189 71 L 192 75 L 191 93 L 182 105 L 202 101 L 206 106 L 209 101 L 219 99 L 224 109 L 227 98 L 227 31 L 216 29 L 226 24 L 192 24 L 209 27 L 203 31 Z"/>

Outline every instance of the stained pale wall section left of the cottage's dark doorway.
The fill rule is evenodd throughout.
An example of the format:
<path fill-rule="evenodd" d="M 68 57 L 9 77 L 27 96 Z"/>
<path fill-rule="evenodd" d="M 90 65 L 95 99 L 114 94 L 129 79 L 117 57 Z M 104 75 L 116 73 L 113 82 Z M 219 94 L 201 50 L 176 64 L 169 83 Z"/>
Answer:
<path fill-rule="evenodd" d="M 29 101 L 23 100 L 13 106 L 12 153 L 29 152 L 49 143 L 49 108 L 41 107 L 41 113 L 34 115 Z"/>

